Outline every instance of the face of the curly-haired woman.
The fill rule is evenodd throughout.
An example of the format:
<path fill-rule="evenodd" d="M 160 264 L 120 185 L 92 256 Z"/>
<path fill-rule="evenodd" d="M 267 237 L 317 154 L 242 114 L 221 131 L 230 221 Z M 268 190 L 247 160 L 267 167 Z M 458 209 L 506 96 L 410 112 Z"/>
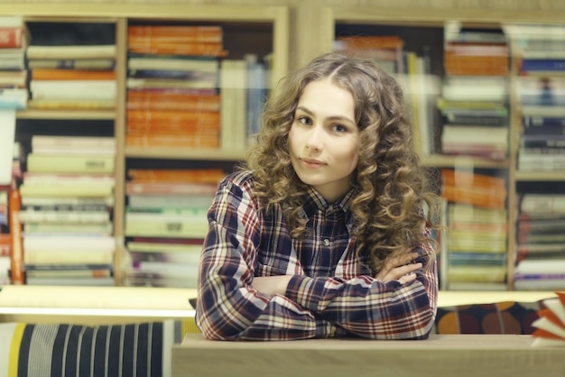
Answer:
<path fill-rule="evenodd" d="M 359 129 L 353 96 L 328 78 L 310 82 L 298 101 L 289 133 L 292 167 L 329 202 L 351 189 Z"/>

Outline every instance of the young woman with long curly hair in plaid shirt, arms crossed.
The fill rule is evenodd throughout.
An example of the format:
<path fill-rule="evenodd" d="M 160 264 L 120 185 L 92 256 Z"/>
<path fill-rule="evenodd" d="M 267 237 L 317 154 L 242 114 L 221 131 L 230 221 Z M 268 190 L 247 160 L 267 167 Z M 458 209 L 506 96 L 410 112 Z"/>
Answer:
<path fill-rule="evenodd" d="M 197 325 L 221 340 L 424 339 L 437 201 L 403 91 L 329 53 L 282 81 L 208 212 Z"/>

